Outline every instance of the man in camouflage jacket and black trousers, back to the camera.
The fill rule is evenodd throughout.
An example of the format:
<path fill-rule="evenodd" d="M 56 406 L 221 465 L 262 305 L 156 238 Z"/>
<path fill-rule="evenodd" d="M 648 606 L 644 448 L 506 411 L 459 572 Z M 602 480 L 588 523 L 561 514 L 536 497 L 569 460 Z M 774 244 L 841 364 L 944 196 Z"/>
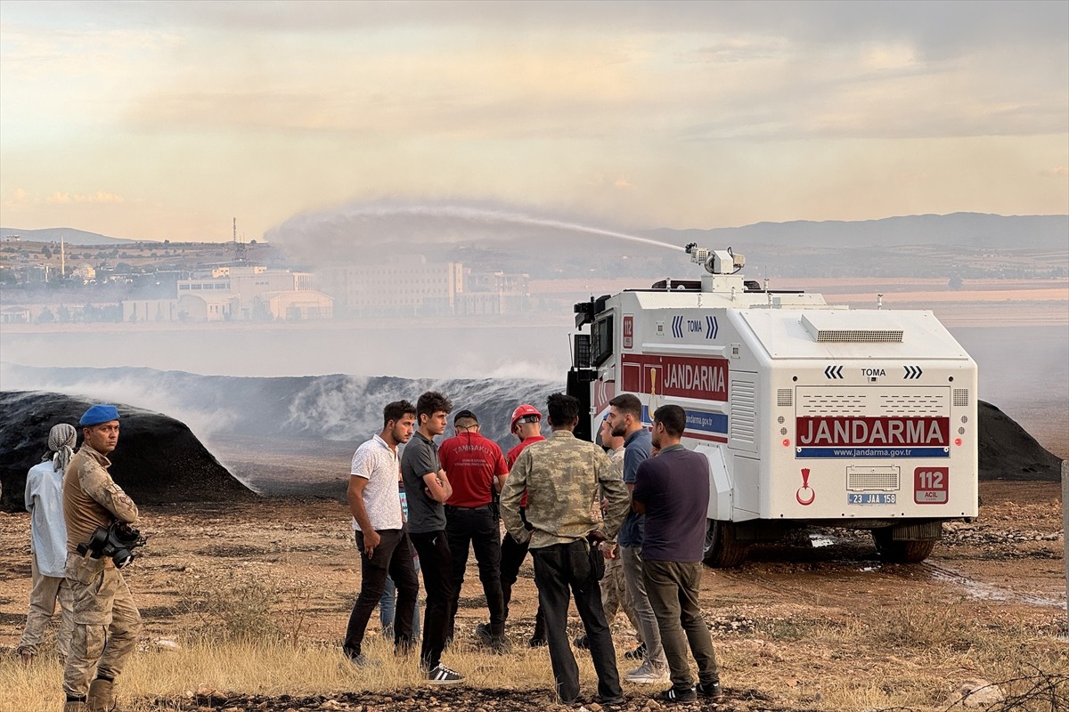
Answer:
<path fill-rule="evenodd" d="M 590 656 L 598 673 L 595 702 L 623 700 L 616 667 L 613 636 L 605 623 L 599 581 L 604 559 L 597 542 L 610 539 L 623 522 L 630 497 L 620 473 L 593 443 L 577 440 L 579 402 L 556 393 L 546 401 L 553 436 L 527 447 L 516 459 L 501 491 L 501 515 L 516 541 L 530 540 L 534 584 L 545 614 L 549 662 L 560 701 L 579 696 L 579 670 L 568 639 L 570 595 L 583 619 Z M 520 502 L 527 491 L 527 525 Z M 607 500 L 599 522 L 591 503 L 603 492 Z M 593 545 L 591 545 L 593 544 Z"/>

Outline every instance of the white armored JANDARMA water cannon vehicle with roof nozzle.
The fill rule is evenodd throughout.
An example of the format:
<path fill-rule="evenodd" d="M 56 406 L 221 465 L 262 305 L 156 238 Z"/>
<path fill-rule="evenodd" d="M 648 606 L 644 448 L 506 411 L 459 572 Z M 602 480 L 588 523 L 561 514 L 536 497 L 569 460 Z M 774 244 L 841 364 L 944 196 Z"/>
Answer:
<path fill-rule="evenodd" d="M 686 411 L 683 444 L 709 459 L 706 564 L 802 526 L 870 529 L 883 558 L 920 561 L 944 521 L 976 516 L 976 362 L 931 312 L 773 291 L 730 249 L 686 251 L 700 280 L 575 305 L 568 392 L 588 440 L 621 393 L 647 425 Z"/>

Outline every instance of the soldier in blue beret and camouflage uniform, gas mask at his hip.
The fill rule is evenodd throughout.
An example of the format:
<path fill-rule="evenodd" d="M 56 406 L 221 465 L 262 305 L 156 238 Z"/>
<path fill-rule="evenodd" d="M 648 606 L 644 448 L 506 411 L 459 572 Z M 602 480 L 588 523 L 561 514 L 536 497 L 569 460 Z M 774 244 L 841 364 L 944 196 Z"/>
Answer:
<path fill-rule="evenodd" d="M 114 709 L 112 684 L 141 632 L 141 614 L 130 589 L 107 556 L 78 553 L 97 527 L 134 524 L 137 505 L 108 474 L 107 455 L 119 442 L 119 411 L 93 406 L 78 423 L 84 442 L 67 465 L 63 516 L 67 525 L 66 579 L 74 599 L 74 635 L 63 673 L 64 712 Z M 93 673 L 96 677 L 93 678 Z M 90 681 L 92 680 L 92 682 Z"/>

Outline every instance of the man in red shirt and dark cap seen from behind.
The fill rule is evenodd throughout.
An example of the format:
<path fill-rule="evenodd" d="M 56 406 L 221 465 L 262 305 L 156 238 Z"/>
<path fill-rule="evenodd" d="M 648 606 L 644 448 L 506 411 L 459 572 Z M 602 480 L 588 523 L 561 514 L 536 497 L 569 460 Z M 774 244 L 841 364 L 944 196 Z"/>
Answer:
<path fill-rule="evenodd" d="M 449 601 L 446 636 L 453 636 L 468 550 L 475 549 L 479 581 L 490 608 L 486 643 L 495 652 L 507 652 L 510 646 L 505 637 L 500 529 L 494 503 L 509 476 L 509 468 L 497 443 L 479 433 L 479 418 L 475 413 L 469 410 L 456 413 L 453 429 L 456 434 L 438 448 L 441 469 L 453 486 L 453 493 L 446 501 L 446 538 L 453 555 L 453 595 Z"/>

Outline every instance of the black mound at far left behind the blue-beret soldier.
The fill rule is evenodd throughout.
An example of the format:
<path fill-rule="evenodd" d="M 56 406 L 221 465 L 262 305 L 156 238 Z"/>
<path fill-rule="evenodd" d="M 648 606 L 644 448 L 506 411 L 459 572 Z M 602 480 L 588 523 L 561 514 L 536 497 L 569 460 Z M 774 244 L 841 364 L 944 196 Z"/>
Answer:
<path fill-rule="evenodd" d="M 26 473 L 47 450 L 57 423 L 77 427 L 92 402 L 43 391 L 0 392 L 0 509 L 21 509 Z M 185 424 L 115 404 L 122 424 L 109 472 L 138 505 L 218 502 L 255 495 L 205 449 Z M 78 432 L 81 444 L 81 431 Z"/>

